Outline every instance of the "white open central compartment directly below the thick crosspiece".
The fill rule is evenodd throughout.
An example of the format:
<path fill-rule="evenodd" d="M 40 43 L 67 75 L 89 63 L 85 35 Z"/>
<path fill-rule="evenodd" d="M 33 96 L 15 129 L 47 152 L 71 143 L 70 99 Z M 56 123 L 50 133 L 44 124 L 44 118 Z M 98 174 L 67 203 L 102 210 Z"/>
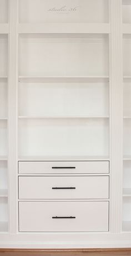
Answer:
<path fill-rule="evenodd" d="M 108 36 L 19 36 L 20 76 L 108 76 Z"/>

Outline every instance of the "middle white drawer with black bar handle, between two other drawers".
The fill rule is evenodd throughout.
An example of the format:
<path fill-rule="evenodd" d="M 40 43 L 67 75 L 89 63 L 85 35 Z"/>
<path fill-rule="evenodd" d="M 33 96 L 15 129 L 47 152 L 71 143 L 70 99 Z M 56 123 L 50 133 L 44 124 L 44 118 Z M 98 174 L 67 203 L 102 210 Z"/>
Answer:
<path fill-rule="evenodd" d="M 19 177 L 19 199 L 108 198 L 108 176 Z"/>

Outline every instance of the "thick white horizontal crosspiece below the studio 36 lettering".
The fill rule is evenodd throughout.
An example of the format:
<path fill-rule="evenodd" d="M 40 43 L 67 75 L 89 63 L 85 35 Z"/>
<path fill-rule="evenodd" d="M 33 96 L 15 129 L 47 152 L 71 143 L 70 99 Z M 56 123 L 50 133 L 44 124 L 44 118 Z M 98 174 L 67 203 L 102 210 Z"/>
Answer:
<path fill-rule="evenodd" d="M 19 23 L 18 33 L 110 33 L 109 23 Z"/>

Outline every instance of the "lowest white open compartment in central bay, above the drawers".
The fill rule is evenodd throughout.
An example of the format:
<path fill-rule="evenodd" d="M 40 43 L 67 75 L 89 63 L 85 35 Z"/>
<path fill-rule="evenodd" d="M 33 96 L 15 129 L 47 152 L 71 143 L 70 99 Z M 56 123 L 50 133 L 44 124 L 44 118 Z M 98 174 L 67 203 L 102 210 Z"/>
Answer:
<path fill-rule="evenodd" d="M 105 119 L 19 120 L 19 155 L 105 155 L 109 153 Z"/>

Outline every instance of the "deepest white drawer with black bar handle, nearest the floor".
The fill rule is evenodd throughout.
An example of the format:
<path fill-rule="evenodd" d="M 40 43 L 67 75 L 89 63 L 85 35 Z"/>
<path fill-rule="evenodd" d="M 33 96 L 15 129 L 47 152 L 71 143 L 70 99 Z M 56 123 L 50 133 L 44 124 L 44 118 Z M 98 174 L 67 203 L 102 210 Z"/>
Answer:
<path fill-rule="evenodd" d="M 108 210 L 108 201 L 19 202 L 19 231 L 108 231 Z"/>

